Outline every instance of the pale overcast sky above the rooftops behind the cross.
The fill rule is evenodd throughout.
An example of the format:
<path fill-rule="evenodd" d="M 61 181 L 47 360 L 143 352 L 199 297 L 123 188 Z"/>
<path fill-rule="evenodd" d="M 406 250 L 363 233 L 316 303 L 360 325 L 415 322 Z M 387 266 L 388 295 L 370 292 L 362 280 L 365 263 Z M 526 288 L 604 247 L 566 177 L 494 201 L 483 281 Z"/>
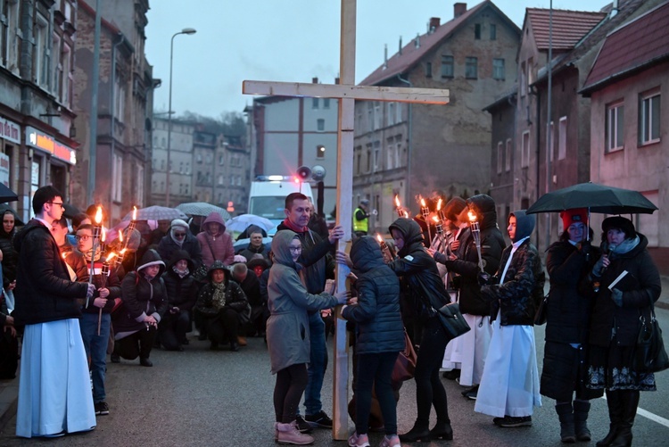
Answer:
<path fill-rule="evenodd" d="M 453 0 L 358 0 L 356 83 L 424 34 L 430 17 L 453 18 Z M 467 2 L 471 8 L 479 2 Z M 549 0 L 493 2 L 523 27 L 526 7 L 548 8 Z M 553 8 L 597 11 L 607 0 L 554 0 Z M 219 117 L 242 112 L 252 96 L 242 81 L 333 83 L 339 71 L 340 0 L 150 0 L 146 57 L 153 77 L 162 79 L 154 108 L 169 103 L 169 42 L 185 28 L 194 35 L 174 39 L 172 110 Z M 586 6 L 587 4 L 587 6 Z"/>

